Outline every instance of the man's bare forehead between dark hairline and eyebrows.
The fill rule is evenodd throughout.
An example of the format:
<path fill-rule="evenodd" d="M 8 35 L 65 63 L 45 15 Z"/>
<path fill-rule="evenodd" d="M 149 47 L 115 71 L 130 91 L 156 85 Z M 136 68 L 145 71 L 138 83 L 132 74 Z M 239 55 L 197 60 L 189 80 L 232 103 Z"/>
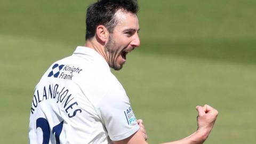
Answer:
<path fill-rule="evenodd" d="M 139 30 L 139 20 L 136 14 L 118 10 L 115 13 L 115 18 L 117 20 L 117 25 L 115 29 L 134 29 Z"/>

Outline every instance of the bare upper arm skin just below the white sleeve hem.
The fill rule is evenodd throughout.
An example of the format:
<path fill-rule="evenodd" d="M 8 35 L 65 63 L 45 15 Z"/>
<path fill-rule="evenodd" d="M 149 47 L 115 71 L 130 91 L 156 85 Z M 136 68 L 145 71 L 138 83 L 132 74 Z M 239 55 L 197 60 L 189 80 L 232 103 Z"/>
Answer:
<path fill-rule="evenodd" d="M 143 134 L 141 131 L 137 131 L 132 134 L 130 137 L 119 140 L 113 141 L 114 144 L 147 144 L 147 141 L 144 139 Z"/>

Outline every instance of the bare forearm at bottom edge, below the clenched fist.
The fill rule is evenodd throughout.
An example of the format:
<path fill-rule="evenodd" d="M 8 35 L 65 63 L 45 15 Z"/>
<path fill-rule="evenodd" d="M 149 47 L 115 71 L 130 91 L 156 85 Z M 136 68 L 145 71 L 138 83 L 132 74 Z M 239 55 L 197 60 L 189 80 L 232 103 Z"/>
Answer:
<path fill-rule="evenodd" d="M 162 143 L 162 144 L 202 144 L 207 139 L 209 131 L 196 131 L 193 134 L 189 135 L 186 138 L 181 140 Z"/>

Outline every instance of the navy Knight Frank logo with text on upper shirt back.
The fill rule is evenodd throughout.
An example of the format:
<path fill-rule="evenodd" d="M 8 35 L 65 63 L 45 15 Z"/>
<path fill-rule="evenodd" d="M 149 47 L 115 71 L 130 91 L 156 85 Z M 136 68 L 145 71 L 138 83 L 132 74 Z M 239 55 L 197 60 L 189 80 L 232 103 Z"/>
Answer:
<path fill-rule="evenodd" d="M 73 76 L 79 74 L 83 69 L 69 65 L 59 65 L 55 63 L 48 77 L 72 80 Z"/>

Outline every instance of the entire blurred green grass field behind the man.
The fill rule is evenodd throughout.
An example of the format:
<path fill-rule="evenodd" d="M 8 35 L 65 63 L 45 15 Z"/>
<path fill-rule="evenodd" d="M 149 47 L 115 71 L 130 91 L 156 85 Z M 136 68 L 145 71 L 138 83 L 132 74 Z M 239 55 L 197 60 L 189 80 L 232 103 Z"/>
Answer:
<path fill-rule="evenodd" d="M 0 143 L 28 143 L 34 87 L 84 44 L 95 1 L 0 2 Z M 113 71 L 149 143 L 196 130 L 197 105 L 219 110 L 205 143 L 256 142 L 256 1 L 139 1 L 141 46 Z"/>

